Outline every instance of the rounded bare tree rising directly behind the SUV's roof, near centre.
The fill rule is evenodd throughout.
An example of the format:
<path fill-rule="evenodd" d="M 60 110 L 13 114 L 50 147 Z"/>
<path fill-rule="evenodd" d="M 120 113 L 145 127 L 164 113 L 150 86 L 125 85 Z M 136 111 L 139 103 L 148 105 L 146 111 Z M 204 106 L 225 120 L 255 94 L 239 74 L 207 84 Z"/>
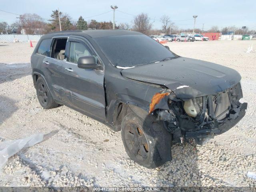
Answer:
<path fill-rule="evenodd" d="M 150 18 L 148 17 L 148 14 L 141 13 L 137 15 L 133 20 L 132 28 L 134 31 L 138 31 L 148 35 L 150 29 L 152 28 L 152 23 L 150 22 Z"/>

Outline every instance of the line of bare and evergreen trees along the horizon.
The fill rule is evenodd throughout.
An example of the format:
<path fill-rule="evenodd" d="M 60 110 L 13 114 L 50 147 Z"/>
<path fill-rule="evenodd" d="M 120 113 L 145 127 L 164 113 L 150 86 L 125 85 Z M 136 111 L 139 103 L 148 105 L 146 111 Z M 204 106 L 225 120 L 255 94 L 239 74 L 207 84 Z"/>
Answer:
<path fill-rule="evenodd" d="M 60 22 L 59 22 L 60 17 Z M 180 29 L 171 21 L 170 17 L 163 15 L 160 20 L 162 24 L 161 29 L 153 29 L 153 22 L 148 14 L 141 13 L 134 17 L 130 23 L 119 23 L 116 28 L 124 30 L 134 30 L 142 32 L 144 34 L 180 34 L 180 32 L 193 32 L 193 29 Z M 87 30 L 87 29 L 112 29 L 113 23 L 109 22 L 98 22 L 96 20 L 85 21 L 82 16 L 78 20 L 72 20 L 69 14 L 53 10 L 50 15 L 50 19 L 45 21 L 37 14 L 23 14 L 20 19 L 11 25 L 6 22 L 0 23 L 0 34 L 20 34 L 23 30 L 26 34 L 47 34 L 49 32 L 55 32 L 65 30 Z M 235 34 L 256 34 L 255 30 L 241 29 L 236 26 L 229 26 L 219 29 L 218 26 L 212 26 L 209 30 L 203 30 L 195 28 L 196 33 L 202 32 L 234 32 Z"/>

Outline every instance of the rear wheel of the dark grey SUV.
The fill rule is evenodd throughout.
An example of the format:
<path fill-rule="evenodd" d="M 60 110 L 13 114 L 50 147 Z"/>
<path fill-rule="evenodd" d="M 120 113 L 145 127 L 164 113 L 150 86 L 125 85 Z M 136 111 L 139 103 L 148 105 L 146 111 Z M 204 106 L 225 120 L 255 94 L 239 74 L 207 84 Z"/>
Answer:
<path fill-rule="evenodd" d="M 44 109 L 56 108 L 58 103 L 52 98 L 49 88 L 42 77 L 38 77 L 36 81 L 36 94 L 40 105 Z"/>

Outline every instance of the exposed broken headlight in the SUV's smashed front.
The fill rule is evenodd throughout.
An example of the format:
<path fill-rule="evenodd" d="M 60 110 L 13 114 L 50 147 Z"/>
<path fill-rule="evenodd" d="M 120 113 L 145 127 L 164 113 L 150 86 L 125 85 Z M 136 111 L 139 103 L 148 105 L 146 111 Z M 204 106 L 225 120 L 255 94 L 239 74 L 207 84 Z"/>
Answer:
<path fill-rule="evenodd" d="M 203 98 L 198 97 L 194 99 L 189 99 L 184 102 L 183 106 L 186 114 L 191 117 L 196 117 L 203 110 Z"/>

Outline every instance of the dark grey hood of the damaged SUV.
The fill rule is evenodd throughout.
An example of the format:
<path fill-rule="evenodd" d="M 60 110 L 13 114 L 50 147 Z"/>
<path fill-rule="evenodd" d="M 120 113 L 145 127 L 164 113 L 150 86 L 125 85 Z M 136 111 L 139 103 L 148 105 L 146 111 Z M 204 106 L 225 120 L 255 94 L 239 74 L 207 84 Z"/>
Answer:
<path fill-rule="evenodd" d="M 121 71 L 122 76 L 164 85 L 178 98 L 195 98 L 222 92 L 241 80 L 231 68 L 191 58 L 175 58 Z"/>

